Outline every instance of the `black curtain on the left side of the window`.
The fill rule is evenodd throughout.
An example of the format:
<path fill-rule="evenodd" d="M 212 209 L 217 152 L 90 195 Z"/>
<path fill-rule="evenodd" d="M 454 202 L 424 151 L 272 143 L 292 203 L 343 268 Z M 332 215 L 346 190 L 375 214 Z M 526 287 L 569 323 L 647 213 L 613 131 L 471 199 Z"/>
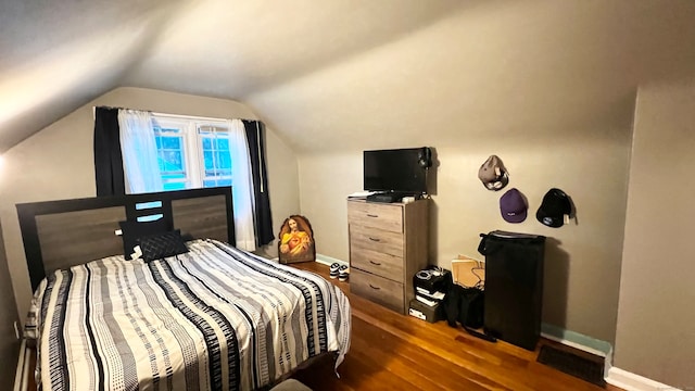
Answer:
<path fill-rule="evenodd" d="M 121 155 L 118 109 L 96 108 L 94 173 L 97 197 L 124 195 L 126 186 Z"/>

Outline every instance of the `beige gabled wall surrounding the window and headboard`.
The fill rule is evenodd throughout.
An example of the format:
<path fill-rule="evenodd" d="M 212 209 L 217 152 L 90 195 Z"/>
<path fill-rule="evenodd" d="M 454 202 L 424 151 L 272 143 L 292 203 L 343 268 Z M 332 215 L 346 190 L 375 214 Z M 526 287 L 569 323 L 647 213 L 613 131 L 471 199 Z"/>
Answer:
<path fill-rule="evenodd" d="M 0 179 L 0 218 L 22 320 L 28 310 L 31 291 L 14 204 L 96 195 L 92 146 L 94 105 L 223 118 L 256 117 L 248 106 L 230 100 L 118 88 L 9 150 L 3 155 Z M 299 211 L 296 159 L 273 129 L 267 129 L 266 142 L 270 205 L 274 227 L 277 226 L 275 231 L 279 231 L 282 216 Z"/>

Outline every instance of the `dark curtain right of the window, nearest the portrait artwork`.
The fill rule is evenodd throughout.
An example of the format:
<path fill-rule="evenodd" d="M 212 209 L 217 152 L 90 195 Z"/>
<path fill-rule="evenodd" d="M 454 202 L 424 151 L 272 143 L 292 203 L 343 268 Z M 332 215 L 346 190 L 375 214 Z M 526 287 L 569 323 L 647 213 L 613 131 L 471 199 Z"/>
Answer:
<path fill-rule="evenodd" d="M 275 239 L 265 164 L 265 127 L 260 121 L 243 121 L 251 157 L 251 175 L 255 200 L 256 244 L 266 245 Z"/>

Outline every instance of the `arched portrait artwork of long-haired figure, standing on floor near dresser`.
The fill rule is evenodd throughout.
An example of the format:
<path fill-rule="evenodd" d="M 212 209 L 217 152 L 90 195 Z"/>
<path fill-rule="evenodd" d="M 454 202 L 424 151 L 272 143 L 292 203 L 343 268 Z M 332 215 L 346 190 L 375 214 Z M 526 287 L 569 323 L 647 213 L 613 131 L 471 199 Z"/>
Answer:
<path fill-rule="evenodd" d="M 316 261 L 314 232 L 306 217 L 292 215 L 285 219 L 278 238 L 280 263 Z"/>

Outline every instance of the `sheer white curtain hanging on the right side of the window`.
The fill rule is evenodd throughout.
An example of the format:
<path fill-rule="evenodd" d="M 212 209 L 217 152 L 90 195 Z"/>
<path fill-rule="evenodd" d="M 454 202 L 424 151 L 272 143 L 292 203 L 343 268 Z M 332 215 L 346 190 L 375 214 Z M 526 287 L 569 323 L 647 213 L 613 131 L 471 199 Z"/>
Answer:
<path fill-rule="evenodd" d="M 227 121 L 229 127 L 229 153 L 231 153 L 231 200 L 235 212 L 237 248 L 256 249 L 253 227 L 253 179 L 247 133 L 241 119 Z"/>

